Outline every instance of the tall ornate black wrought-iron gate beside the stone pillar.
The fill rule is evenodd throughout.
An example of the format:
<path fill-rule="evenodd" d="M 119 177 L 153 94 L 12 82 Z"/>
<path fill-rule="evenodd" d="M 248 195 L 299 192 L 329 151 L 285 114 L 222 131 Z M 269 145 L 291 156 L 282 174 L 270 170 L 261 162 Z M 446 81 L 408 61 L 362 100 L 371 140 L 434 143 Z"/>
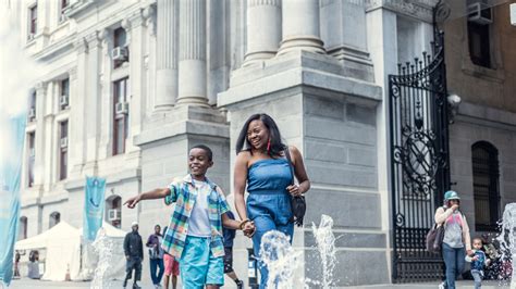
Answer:
<path fill-rule="evenodd" d="M 389 76 L 393 210 L 393 280 L 443 275 L 440 255 L 425 250 L 437 206 L 450 187 L 449 114 L 444 35 L 435 34 L 433 56 L 398 65 Z"/>

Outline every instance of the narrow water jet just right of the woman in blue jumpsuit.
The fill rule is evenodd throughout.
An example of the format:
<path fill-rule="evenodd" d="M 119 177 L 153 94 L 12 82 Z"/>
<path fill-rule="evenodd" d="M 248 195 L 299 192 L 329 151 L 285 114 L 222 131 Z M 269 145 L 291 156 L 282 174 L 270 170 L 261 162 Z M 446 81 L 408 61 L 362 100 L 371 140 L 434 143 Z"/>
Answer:
<path fill-rule="evenodd" d="M 334 286 L 333 269 L 335 268 L 335 236 L 332 231 L 333 218 L 328 215 L 321 216 L 319 227 L 311 223 L 311 230 L 316 238 L 317 249 L 322 261 L 322 288 Z"/>

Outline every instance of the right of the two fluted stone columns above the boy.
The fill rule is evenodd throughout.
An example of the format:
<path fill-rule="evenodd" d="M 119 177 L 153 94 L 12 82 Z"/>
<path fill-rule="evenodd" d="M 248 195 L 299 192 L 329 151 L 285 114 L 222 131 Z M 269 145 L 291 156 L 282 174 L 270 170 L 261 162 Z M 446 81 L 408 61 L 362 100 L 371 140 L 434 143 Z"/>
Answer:
<path fill-rule="evenodd" d="M 206 89 L 206 0 L 180 1 L 177 104 L 208 105 Z"/>

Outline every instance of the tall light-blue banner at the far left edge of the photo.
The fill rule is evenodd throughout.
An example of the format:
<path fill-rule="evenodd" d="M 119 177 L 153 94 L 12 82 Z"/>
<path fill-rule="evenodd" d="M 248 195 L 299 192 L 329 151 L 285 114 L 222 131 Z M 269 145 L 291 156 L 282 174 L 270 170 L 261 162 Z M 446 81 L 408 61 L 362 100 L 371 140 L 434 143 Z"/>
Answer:
<path fill-rule="evenodd" d="M 20 176 L 26 115 L 2 122 L 0 144 L 0 284 L 11 284 L 20 217 Z"/>

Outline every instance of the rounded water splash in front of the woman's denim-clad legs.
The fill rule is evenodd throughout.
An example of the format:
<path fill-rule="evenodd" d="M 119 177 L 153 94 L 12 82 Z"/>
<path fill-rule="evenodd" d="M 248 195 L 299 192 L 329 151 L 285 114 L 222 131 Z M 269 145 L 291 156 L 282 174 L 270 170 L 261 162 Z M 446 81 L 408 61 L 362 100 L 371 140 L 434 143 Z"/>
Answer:
<path fill-rule="evenodd" d="M 294 272 L 300 262 L 302 252 L 296 252 L 285 234 L 271 230 L 261 237 L 260 261 L 269 269 L 268 288 L 294 288 Z"/>

